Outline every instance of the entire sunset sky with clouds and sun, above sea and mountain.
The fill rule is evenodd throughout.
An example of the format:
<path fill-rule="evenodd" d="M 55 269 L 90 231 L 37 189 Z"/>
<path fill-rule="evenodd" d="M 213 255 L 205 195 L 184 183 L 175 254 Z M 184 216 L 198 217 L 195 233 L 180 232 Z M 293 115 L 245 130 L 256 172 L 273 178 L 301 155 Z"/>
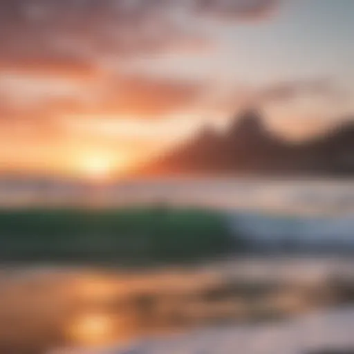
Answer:
<path fill-rule="evenodd" d="M 353 14 L 352 0 L 1 0 L 0 170 L 127 171 L 249 105 L 286 138 L 321 133 L 353 115 Z"/>

